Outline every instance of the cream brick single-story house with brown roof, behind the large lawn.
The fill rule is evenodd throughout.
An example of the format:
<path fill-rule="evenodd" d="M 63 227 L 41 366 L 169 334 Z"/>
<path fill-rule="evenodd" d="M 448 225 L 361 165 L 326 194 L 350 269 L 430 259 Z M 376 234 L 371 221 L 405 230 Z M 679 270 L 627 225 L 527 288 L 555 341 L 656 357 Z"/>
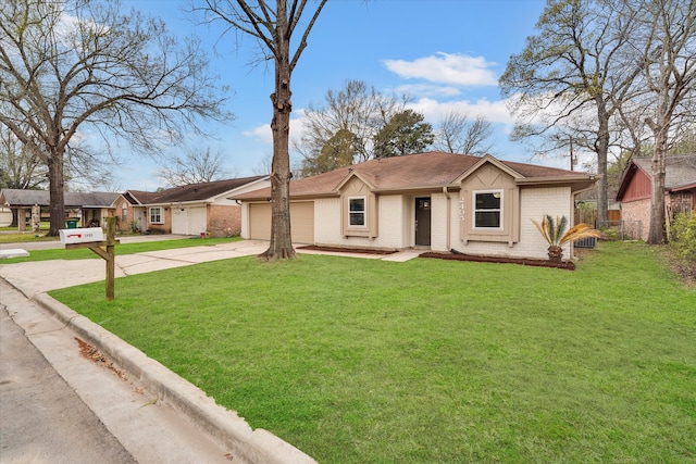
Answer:
<path fill-rule="evenodd" d="M 442 152 L 371 160 L 290 183 L 296 243 L 546 259 L 532 220 L 564 215 L 594 175 Z M 241 236 L 269 239 L 271 192 L 241 201 Z M 570 246 L 564 249 L 570 256 Z"/>

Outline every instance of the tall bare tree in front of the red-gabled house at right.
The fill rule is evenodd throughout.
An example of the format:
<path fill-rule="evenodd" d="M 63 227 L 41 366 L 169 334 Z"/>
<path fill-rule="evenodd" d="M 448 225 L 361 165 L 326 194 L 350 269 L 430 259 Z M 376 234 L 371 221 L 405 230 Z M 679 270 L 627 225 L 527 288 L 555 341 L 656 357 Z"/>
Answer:
<path fill-rule="evenodd" d="M 644 40 L 645 83 L 656 104 L 645 122 L 652 130 L 652 197 L 648 243 L 664 242 L 664 177 L 670 133 L 675 121 L 693 121 L 696 99 L 696 0 L 638 2 Z"/>

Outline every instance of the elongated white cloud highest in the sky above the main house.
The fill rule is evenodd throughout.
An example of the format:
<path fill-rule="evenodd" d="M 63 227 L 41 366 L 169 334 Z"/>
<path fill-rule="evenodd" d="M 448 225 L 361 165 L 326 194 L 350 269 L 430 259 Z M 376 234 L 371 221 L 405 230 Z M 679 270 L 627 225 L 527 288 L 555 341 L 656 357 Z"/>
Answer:
<path fill-rule="evenodd" d="M 386 67 L 405 79 L 420 78 L 455 86 L 496 86 L 490 67 L 493 62 L 483 57 L 437 52 L 414 61 L 384 60 Z"/>

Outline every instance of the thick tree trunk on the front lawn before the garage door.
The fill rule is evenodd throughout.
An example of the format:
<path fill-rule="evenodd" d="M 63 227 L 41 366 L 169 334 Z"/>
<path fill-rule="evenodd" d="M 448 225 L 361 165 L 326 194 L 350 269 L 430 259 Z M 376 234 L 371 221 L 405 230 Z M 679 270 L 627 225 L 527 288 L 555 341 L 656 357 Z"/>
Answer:
<path fill-rule="evenodd" d="M 268 261 L 295 258 L 290 234 L 290 43 L 287 12 L 278 2 L 276 46 L 279 55 L 275 59 L 275 93 L 273 102 L 273 162 L 271 167 L 271 242 L 260 258 Z"/>

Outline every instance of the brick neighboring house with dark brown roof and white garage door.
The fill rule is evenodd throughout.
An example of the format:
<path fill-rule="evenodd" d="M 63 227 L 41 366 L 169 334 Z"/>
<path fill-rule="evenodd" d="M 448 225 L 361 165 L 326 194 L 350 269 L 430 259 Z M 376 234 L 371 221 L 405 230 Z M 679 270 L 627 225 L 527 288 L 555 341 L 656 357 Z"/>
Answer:
<path fill-rule="evenodd" d="M 113 206 L 121 230 L 225 237 L 241 229 L 240 206 L 227 198 L 270 185 L 269 176 L 264 175 L 156 192 L 127 190 L 114 200 Z"/>

